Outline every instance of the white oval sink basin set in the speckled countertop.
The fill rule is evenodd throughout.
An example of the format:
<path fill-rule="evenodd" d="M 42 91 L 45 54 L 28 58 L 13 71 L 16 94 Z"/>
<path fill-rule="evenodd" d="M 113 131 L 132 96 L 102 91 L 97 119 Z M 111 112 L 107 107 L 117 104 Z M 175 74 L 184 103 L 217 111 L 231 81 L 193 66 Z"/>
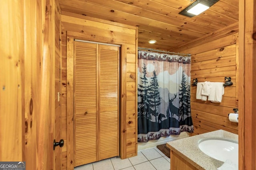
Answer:
<path fill-rule="evenodd" d="M 238 165 L 238 143 L 225 139 L 205 139 L 198 147 L 208 156 L 225 162 L 227 159 Z"/>

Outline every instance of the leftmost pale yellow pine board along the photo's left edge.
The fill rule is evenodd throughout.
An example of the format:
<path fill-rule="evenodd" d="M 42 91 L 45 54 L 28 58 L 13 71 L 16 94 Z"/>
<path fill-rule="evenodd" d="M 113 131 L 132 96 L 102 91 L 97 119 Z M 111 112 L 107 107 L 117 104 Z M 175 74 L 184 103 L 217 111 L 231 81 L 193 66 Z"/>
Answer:
<path fill-rule="evenodd" d="M 0 161 L 25 160 L 24 15 L 23 1 L 1 2 Z"/>

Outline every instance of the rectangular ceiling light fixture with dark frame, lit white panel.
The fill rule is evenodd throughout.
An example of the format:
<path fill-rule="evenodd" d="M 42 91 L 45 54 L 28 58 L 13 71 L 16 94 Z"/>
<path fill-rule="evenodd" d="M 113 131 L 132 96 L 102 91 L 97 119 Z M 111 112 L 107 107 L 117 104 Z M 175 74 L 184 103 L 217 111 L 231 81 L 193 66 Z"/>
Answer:
<path fill-rule="evenodd" d="M 182 10 L 179 14 L 193 17 L 201 14 L 205 10 L 208 10 L 211 6 L 213 6 L 219 0 L 196 0 L 192 4 L 190 4 L 187 8 Z"/>

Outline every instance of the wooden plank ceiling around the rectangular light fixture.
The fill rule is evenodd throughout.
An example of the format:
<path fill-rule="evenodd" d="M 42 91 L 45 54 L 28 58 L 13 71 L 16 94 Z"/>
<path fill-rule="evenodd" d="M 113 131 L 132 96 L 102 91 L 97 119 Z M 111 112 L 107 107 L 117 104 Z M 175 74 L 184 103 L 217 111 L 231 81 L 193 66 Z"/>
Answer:
<path fill-rule="evenodd" d="M 194 2 L 194 0 L 192 0 Z M 220 0 L 192 18 L 178 14 L 190 0 L 59 0 L 62 14 L 138 26 L 138 46 L 172 51 L 238 22 L 238 0 Z M 149 44 L 155 39 L 155 44 Z"/>

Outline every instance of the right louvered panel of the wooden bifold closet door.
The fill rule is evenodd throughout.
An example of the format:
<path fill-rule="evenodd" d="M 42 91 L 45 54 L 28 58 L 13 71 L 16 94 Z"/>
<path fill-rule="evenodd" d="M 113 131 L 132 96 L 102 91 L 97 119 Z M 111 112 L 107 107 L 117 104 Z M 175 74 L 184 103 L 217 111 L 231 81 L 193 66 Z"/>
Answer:
<path fill-rule="evenodd" d="M 119 156 L 119 47 L 99 45 L 99 160 Z"/>

